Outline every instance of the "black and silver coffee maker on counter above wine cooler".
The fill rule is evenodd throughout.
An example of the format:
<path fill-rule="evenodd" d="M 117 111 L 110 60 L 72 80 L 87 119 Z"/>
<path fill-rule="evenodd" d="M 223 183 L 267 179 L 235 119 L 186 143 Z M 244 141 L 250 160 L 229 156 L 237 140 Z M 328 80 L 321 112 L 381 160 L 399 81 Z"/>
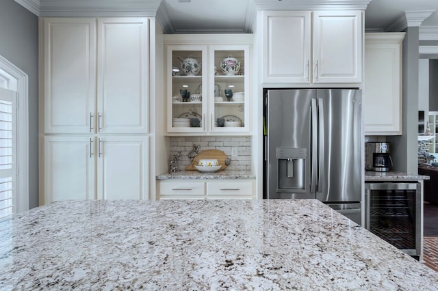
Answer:
<path fill-rule="evenodd" d="M 392 158 L 389 154 L 389 143 L 365 143 L 365 169 L 372 171 L 389 171 Z"/>

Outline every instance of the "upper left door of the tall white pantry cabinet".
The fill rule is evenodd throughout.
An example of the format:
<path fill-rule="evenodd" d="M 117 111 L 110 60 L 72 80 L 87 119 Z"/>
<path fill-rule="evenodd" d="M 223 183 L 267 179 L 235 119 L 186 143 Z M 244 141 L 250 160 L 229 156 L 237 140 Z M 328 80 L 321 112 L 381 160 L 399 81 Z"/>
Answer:
<path fill-rule="evenodd" d="M 44 19 L 44 132 L 89 133 L 94 113 L 94 18 Z"/>

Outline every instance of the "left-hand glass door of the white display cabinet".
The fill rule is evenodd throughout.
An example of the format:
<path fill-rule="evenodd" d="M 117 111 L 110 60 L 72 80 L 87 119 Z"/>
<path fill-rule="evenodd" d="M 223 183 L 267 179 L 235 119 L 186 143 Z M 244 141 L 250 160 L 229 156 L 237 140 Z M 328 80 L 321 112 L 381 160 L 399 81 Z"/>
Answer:
<path fill-rule="evenodd" d="M 206 129 L 206 49 L 195 46 L 168 47 L 168 131 L 202 132 Z M 204 67 L 205 66 L 205 70 Z"/>

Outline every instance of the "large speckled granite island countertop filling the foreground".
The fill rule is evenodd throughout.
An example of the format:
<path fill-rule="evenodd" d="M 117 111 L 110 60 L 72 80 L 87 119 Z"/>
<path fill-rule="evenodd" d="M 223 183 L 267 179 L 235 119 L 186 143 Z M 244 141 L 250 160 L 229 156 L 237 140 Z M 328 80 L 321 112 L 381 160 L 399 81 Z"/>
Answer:
<path fill-rule="evenodd" d="M 437 290 L 315 199 L 54 202 L 0 221 L 0 290 Z"/>

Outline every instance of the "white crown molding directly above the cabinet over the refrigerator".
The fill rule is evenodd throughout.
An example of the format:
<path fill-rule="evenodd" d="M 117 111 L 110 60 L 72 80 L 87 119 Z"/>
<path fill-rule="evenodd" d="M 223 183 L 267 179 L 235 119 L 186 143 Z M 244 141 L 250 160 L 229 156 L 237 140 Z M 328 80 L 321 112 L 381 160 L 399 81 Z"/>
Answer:
<path fill-rule="evenodd" d="M 371 0 L 253 0 L 257 10 L 365 10 Z"/>

